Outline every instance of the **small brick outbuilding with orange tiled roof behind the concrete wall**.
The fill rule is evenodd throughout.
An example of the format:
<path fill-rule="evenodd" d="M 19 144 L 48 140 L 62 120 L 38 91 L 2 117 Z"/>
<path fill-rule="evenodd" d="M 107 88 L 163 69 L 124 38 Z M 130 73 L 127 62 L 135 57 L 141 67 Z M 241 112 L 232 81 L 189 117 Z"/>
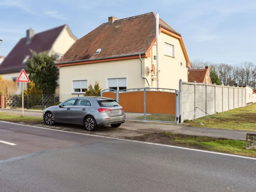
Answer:
<path fill-rule="evenodd" d="M 210 67 L 205 66 L 204 69 L 190 69 L 188 70 L 188 82 L 205 83 L 212 84 L 210 78 Z"/>

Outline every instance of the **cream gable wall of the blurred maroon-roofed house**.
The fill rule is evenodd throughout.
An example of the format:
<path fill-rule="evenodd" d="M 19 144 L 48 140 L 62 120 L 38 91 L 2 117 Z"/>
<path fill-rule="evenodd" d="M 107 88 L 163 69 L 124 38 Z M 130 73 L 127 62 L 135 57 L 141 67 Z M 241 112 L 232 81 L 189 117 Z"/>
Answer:
<path fill-rule="evenodd" d="M 52 45 L 52 52 L 64 54 L 76 42 L 66 26 Z"/>

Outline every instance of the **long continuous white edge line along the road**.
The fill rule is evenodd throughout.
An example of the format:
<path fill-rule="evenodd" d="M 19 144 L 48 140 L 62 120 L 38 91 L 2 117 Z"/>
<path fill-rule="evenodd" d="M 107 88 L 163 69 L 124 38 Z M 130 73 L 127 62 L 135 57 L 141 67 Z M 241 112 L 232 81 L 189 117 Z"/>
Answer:
<path fill-rule="evenodd" d="M 45 127 L 37 127 L 37 126 L 32 126 L 32 125 L 24 125 L 24 124 L 18 124 L 18 123 L 6 122 L 6 121 L 0 121 L 0 122 L 2 122 L 2 123 L 9 123 L 9 124 L 16 124 L 16 125 L 21 125 L 21 126 L 35 127 L 35 128 L 39 128 L 39 129 L 48 129 L 48 130 L 53 130 L 53 131 L 74 133 L 74 134 L 80 134 L 80 135 L 89 135 L 89 136 L 94 136 L 94 137 L 105 137 L 105 138 L 109 138 L 109 139 L 131 141 L 131 142 L 144 143 L 144 144 L 150 144 L 150 145 L 160 145 L 160 146 L 164 146 L 164 147 L 179 148 L 179 149 L 186 149 L 186 150 L 191 150 L 191 151 L 199 151 L 199 152 L 204 152 L 204 153 L 212 153 L 212 154 L 218 154 L 218 155 L 233 156 L 233 157 L 240 157 L 240 158 L 245 158 L 245 159 L 253 159 L 253 160 L 256 160 L 256 158 L 254 158 L 254 157 L 246 157 L 246 156 L 232 155 L 232 154 L 219 153 L 219 152 L 213 152 L 213 151 L 204 151 L 204 150 L 200 150 L 200 149 L 191 149 L 191 148 L 178 147 L 178 146 L 172 146 L 172 145 L 164 145 L 164 144 L 159 144 L 159 143 L 150 143 L 150 142 L 145 142 L 145 141 L 118 139 L 118 138 L 114 138 L 114 137 L 106 137 L 106 136 L 101 136 L 101 135 L 92 135 L 92 134 L 86 134 L 86 133 L 68 132 L 68 131 L 63 131 L 63 130 L 49 129 L 49 128 L 45 128 Z M 15 144 L 15 145 L 16 145 L 16 144 Z"/>

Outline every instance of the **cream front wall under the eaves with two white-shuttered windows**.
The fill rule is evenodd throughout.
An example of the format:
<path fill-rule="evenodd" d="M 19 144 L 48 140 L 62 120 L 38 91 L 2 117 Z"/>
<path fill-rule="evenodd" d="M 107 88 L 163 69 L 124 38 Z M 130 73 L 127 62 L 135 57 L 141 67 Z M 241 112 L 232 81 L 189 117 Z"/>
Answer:
<path fill-rule="evenodd" d="M 127 89 L 148 86 L 141 78 L 139 58 L 60 67 L 60 95 L 73 93 L 72 80 L 87 80 L 88 85 L 99 81 L 100 88 L 107 89 L 107 78 L 126 77 Z"/>

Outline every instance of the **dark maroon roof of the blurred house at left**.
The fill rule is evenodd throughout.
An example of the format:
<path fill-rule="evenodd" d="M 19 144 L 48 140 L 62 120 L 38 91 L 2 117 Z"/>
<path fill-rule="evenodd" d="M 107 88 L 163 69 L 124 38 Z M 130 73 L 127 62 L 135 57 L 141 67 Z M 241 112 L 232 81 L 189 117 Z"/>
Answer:
<path fill-rule="evenodd" d="M 30 50 L 36 53 L 51 50 L 55 40 L 65 27 L 66 25 L 62 25 L 36 33 L 29 43 L 27 43 L 26 37 L 21 38 L 0 65 L 0 74 L 18 72 L 23 68 L 26 69 L 27 66 L 23 64 L 23 60 L 26 56 L 31 56 Z"/>

